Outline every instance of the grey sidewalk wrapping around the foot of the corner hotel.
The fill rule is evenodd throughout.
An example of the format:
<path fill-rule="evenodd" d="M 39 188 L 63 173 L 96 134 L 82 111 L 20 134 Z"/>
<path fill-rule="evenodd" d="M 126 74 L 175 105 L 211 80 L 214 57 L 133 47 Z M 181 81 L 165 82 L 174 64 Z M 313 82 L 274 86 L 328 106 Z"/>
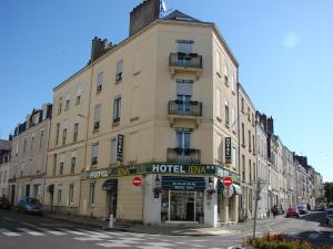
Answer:
<path fill-rule="evenodd" d="M 81 216 L 69 216 L 46 212 L 46 217 L 62 220 L 68 222 L 73 222 L 82 226 L 95 227 L 104 230 L 118 230 L 128 232 L 140 232 L 150 235 L 173 235 L 173 236 L 216 236 L 216 235 L 234 235 L 238 234 L 233 229 L 228 229 L 228 226 L 220 228 L 212 228 L 206 225 L 173 225 L 173 224 L 162 224 L 159 226 L 144 226 L 141 224 L 129 224 L 115 221 L 113 228 L 109 228 L 109 221 L 81 217 Z M 233 225 L 231 225 L 232 227 Z"/>

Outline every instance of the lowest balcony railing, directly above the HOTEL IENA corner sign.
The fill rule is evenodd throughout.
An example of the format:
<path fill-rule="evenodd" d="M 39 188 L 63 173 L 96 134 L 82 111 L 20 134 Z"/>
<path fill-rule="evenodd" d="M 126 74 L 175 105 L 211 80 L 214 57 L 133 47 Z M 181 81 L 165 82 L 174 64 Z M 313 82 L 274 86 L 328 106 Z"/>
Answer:
<path fill-rule="evenodd" d="M 168 148 L 168 163 L 200 164 L 201 151 L 193 148 Z"/>

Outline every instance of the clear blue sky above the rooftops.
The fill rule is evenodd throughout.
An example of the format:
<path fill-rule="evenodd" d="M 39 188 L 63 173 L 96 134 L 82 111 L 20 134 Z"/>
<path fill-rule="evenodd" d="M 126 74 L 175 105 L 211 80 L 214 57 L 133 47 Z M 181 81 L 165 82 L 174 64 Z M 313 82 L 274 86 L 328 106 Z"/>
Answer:
<path fill-rule="evenodd" d="M 91 39 L 128 38 L 141 0 L 1 0 L 0 138 L 52 89 L 83 68 Z M 333 1 L 165 0 L 214 22 L 240 63 L 256 110 L 274 118 L 283 144 L 333 181 Z"/>

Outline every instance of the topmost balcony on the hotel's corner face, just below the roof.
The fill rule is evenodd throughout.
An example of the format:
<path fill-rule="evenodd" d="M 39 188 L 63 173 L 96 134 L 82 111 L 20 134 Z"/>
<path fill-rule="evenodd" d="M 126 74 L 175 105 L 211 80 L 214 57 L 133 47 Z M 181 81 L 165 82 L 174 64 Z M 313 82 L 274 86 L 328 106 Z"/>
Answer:
<path fill-rule="evenodd" d="M 196 53 L 170 53 L 169 66 L 172 77 L 175 73 L 193 72 L 198 80 L 202 73 L 202 55 Z"/>

